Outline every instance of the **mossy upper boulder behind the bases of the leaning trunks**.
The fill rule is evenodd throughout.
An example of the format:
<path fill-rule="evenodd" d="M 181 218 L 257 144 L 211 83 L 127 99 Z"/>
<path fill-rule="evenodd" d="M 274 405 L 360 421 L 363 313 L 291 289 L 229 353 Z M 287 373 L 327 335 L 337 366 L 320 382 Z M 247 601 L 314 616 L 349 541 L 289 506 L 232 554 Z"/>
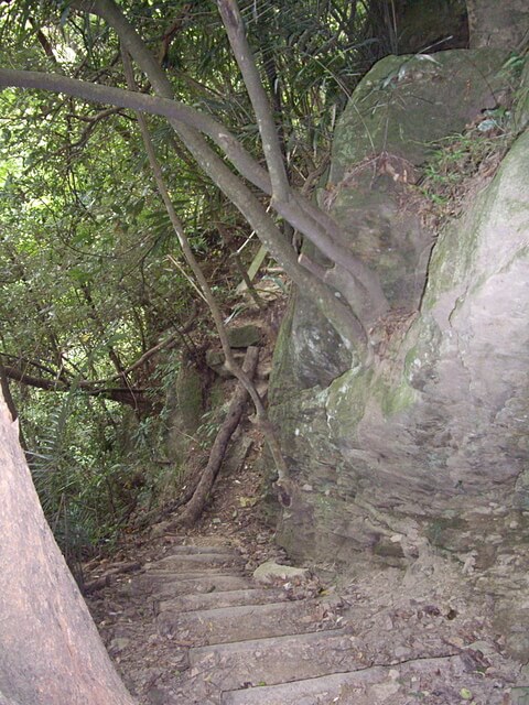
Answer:
<path fill-rule="evenodd" d="M 462 131 L 496 105 L 505 56 L 490 50 L 389 56 L 363 79 L 339 121 L 330 185 L 320 202 L 342 226 L 352 252 L 378 273 L 392 308 L 419 306 L 434 242 L 421 220 L 415 167 L 432 141 Z M 339 336 L 295 293 L 278 340 L 271 398 L 276 389 L 284 399 L 300 389 L 325 388 L 349 366 Z"/>

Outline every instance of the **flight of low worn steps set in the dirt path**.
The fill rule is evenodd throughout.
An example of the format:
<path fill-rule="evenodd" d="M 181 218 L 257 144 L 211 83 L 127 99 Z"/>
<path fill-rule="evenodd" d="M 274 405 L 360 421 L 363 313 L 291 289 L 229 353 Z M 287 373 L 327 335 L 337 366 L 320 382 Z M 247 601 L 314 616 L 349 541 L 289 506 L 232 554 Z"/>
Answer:
<path fill-rule="evenodd" d="M 90 599 L 109 652 L 142 704 L 510 702 L 486 681 L 483 651 L 432 634 L 428 610 L 414 626 L 406 614 L 377 621 L 359 604 L 363 630 L 325 594 L 296 599 L 284 585 L 257 584 L 229 547 L 169 552 L 133 573 L 115 566 L 120 577 Z"/>

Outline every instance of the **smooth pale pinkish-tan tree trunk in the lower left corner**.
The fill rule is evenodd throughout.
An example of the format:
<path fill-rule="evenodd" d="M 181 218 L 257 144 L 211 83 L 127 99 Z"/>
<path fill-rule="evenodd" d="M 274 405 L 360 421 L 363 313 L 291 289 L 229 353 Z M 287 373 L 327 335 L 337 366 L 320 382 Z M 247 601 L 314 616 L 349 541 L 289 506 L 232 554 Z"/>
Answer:
<path fill-rule="evenodd" d="M 0 703 L 132 705 L 44 519 L 0 399 Z"/>

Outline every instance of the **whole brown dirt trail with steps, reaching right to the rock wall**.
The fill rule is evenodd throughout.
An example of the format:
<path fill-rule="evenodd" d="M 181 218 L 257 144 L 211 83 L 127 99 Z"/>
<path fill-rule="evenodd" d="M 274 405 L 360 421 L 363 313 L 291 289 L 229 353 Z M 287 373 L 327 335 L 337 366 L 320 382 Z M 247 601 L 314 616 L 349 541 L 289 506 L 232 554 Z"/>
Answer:
<path fill-rule="evenodd" d="M 486 615 L 455 594 L 457 575 L 431 583 L 433 564 L 336 590 L 310 575 L 258 583 L 218 536 L 141 551 L 93 566 L 102 586 L 88 603 L 142 705 L 519 702 Z"/>

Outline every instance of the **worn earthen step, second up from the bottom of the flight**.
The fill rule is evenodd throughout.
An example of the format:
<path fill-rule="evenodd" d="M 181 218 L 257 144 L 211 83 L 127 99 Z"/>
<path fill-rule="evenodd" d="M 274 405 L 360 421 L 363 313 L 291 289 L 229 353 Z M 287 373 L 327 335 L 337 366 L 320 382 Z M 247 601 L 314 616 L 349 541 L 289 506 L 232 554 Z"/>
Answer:
<path fill-rule="evenodd" d="M 190 665 L 219 691 L 229 691 L 248 683 L 272 685 L 366 664 L 354 638 L 344 629 L 333 629 L 194 648 Z"/>

